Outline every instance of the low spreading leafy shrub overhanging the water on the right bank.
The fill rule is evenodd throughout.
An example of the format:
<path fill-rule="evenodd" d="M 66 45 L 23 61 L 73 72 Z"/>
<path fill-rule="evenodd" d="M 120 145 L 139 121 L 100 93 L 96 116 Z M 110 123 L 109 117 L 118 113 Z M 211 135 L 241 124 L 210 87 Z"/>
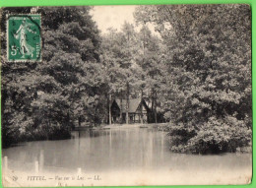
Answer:
<path fill-rule="evenodd" d="M 170 125 L 168 135 L 172 152 L 219 154 L 248 151 L 243 149 L 250 147 L 252 131 L 244 121 L 228 116 L 198 126 Z"/>

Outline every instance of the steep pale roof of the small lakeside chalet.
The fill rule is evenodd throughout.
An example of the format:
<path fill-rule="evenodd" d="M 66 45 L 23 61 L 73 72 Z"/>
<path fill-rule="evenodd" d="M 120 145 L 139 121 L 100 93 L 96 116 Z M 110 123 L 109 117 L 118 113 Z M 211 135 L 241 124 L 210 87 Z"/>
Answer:
<path fill-rule="evenodd" d="M 117 105 L 119 106 L 119 108 L 122 107 L 122 111 L 125 112 L 126 111 L 126 99 L 122 99 L 122 105 L 121 105 L 121 100 L 120 99 L 115 99 Z M 140 103 L 141 103 L 141 98 L 130 98 L 129 99 L 129 113 L 134 113 L 136 112 L 136 110 L 138 109 Z M 144 101 L 144 100 L 143 100 Z M 146 105 L 146 108 L 148 109 L 148 106 L 146 104 L 146 102 L 143 102 Z"/>

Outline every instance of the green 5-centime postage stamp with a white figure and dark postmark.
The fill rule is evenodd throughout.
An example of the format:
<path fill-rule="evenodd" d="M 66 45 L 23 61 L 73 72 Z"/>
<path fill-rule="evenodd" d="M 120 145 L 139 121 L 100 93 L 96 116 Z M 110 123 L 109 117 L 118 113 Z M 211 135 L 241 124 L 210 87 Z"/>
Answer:
<path fill-rule="evenodd" d="M 41 16 L 8 15 L 7 59 L 8 61 L 41 60 Z"/>

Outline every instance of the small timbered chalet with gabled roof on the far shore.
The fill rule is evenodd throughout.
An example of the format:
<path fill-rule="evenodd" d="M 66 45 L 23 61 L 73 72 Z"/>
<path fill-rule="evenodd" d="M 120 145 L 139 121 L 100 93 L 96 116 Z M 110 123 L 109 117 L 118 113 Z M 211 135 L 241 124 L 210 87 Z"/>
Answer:
<path fill-rule="evenodd" d="M 111 105 L 112 123 L 126 122 L 126 99 L 114 99 Z M 122 115 L 120 115 L 122 113 Z M 148 123 L 150 108 L 144 99 L 131 98 L 129 99 L 128 118 L 129 123 Z"/>

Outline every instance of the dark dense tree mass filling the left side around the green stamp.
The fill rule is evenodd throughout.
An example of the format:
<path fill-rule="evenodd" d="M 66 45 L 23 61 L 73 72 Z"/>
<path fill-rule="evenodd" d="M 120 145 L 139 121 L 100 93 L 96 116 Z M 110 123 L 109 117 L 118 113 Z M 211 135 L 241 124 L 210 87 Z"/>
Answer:
<path fill-rule="evenodd" d="M 42 62 L 7 62 L 6 53 L 2 52 L 4 144 L 22 137 L 65 138 L 75 124 L 81 125 L 83 121 L 96 124 L 105 119 L 107 86 L 99 64 L 99 32 L 89 15 L 90 9 L 37 10 L 42 15 Z M 30 11 L 31 8 L 5 8 L 2 18 L 12 12 Z M 4 28 L 5 23 L 2 19 Z M 4 51 L 6 38 L 2 35 L 1 39 Z"/>

